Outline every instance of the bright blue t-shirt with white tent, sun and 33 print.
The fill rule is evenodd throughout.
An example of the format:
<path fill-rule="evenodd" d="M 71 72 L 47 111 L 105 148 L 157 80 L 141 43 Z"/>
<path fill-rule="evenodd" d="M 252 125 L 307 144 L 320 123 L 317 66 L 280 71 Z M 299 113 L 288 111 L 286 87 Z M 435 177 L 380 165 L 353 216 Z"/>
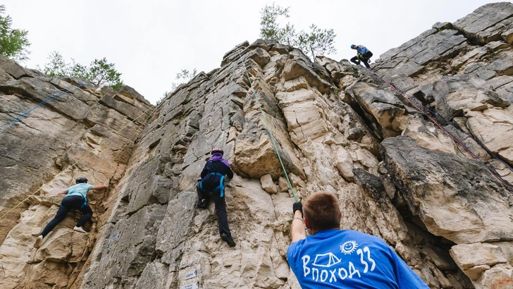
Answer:
<path fill-rule="evenodd" d="M 302 288 L 426 288 L 383 240 L 356 230 L 321 230 L 288 247 Z"/>

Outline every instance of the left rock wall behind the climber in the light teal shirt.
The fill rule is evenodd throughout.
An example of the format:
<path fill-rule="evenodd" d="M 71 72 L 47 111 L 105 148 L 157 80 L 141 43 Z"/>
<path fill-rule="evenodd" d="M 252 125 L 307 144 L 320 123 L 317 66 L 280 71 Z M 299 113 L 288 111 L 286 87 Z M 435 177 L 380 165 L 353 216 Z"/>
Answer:
<path fill-rule="evenodd" d="M 81 278 L 115 189 L 88 196 L 89 233 L 72 230 L 80 218 L 72 211 L 39 250 L 32 244 L 61 204 L 56 193 L 75 178 L 116 187 L 152 106 L 130 87 L 99 90 L 2 57 L 0 102 L 0 287 L 68 288 Z"/>

